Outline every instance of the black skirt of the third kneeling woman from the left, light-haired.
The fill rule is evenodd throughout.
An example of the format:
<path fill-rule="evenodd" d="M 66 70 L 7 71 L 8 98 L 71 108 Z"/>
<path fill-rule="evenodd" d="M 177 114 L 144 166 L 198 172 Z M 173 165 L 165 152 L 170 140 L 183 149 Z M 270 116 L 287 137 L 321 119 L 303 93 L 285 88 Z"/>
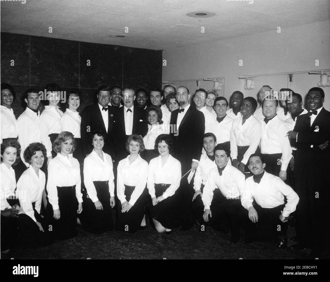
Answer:
<path fill-rule="evenodd" d="M 60 219 L 53 218 L 53 208 L 47 205 L 47 215 L 51 225 L 52 234 L 57 239 L 68 239 L 77 235 L 77 198 L 76 185 L 70 187 L 57 187 Z"/>

